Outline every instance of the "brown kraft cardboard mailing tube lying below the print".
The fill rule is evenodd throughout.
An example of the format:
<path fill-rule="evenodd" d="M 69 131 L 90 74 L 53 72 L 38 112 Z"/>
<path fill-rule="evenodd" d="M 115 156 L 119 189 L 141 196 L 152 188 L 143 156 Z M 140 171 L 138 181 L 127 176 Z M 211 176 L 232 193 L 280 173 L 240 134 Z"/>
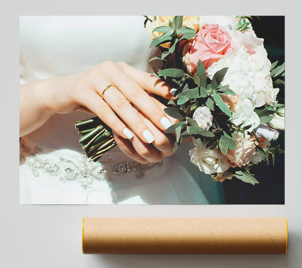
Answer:
<path fill-rule="evenodd" d="M 286 218 L 83 218 L 85 254 L 286 254 Z"/>

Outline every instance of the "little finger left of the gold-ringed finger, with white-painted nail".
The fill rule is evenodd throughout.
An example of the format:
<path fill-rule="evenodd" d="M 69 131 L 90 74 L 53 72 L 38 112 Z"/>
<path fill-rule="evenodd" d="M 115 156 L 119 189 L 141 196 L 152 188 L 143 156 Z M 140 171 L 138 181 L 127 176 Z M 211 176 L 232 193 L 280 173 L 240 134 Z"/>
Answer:
<path fill-rule="evenodd" d="M 111 127 L 119 136 L 125 139 L 132 139 L 133 133 L 116 116 L 108 104 L 93 90 L 86 90 L 81 94 L 75 94 L 73 102 L 87 107 L 95 113 L 105 124 Z"/>

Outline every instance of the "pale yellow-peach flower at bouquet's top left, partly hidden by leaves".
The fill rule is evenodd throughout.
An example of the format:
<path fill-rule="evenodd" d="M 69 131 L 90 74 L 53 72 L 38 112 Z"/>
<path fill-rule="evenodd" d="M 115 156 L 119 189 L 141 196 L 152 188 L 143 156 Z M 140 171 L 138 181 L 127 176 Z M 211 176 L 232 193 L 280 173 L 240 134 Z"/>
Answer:
<path fill-rule="evenodd" d="M 161 36 L 163 33 L 161 32 L 152 32 L 155 28 L 160 26 L 168 26 L 169 21 L 173 20 L 174 16 L 157 16 L 156 20 L 152 22 L 151 26 L 148 28 L 150 31 L 150 35 L 152 39 L 155 39 Z M 183 16 L 183 24 L 182 26 L 186 26 L 195 30 L 195 32 L 199 29 L 199 17 L 198 16 Z M 161 44 L 162 47 L 170 48 L 170 42 L 165 44 Z"/>

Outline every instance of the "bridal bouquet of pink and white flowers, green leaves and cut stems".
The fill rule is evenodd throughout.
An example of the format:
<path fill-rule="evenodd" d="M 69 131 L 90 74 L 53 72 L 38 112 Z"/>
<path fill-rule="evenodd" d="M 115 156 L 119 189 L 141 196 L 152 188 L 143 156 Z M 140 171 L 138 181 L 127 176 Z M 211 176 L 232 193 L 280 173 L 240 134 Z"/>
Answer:
<path fill-rule="evenodd" d="M 274 163 L 275 156 L 284 153 L 280 146 L 270 147 L 270 141 L 278 138 L 277 129 L 284 130 L 284 104 L 276 101 L 277 86 L 284 85 L 284 63 L 271 64 L 248 16 L 145 17 L 145 26 L 152 22 L 150 47 L 160 48 L 159 55 L 149 60 L 155 64 L 149 65 L 177 89 L 177 101 L 165 103 L 165 112 L 179 119 L 166 130 L 175 134 L 173 151 L 193 138 L 189 156 L 200 171 L 216 181 L 236 177 L 258 183 L 250 166 Z M 89 130 L 76 123 L 84 131 L 82 140 L 100 123 L 90 120 Z M 110 150 L 108 144 L 114 145 L 110 129 L 98 127 L 103 127 L 100 136 L 105 140 L 100 150 L 93 149 L 102 155 Z M 86 149 L 89 139 L 82 143 Z"/>

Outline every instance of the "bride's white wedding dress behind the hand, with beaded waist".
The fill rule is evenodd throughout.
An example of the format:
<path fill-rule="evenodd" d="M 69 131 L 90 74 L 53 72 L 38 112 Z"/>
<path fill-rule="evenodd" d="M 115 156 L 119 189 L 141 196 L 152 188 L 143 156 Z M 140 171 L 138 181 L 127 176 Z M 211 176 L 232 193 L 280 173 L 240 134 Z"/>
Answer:
<path fill-rule="evenodd" d="M 105 60 L 150 72 L 143 16 L 21 16 L 20 85 L 81 72 Z M 20 204 L 224 204 L 222 184 L 190 163 L 192 144 L 141 165 L 118 147 L 100 163 L 83 155 L 74 122 L 55 114 L 20 141 Z"/>

